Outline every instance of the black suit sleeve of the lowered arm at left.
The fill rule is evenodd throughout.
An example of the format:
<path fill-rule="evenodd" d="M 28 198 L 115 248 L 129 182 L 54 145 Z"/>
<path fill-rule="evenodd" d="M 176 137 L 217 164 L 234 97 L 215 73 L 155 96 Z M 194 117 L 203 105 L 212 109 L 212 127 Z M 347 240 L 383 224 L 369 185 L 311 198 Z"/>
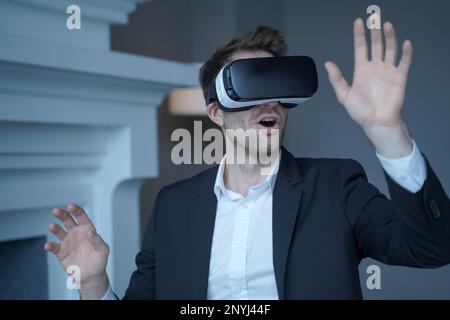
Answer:
<path fill-rule="evenodd" d="M 125 292 L 124 300 L 151 300 L 155 299 L 155 265 L 156 265 L 156 239 L 157 219 L 161 199 L 165 188 L 161 189 L 156 197 L 150 221 L 145 231 L 141 251 L 136 256 L 136 270 L 131 275 L 130 284 Z"/>

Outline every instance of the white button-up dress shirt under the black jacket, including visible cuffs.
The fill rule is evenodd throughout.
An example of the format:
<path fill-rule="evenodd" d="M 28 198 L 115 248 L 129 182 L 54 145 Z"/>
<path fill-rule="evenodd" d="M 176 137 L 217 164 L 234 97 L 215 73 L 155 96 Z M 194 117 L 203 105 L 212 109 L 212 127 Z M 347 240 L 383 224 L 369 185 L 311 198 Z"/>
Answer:
<path fill-rule="evenodd" d="M 278 172 L 280 157 L 271 173 Z M 383 169 L 400 186 L 415 193 L 426 179 L 426 165 L 416 143 L 401 159 L 377 154 Z M 227 189 L 224 159 L 217 171 L 214 193 L 217 211 L 208 278 L 208 299 L 278 299 L 273 269 L 272 192 L 276 174 L 249 189 L 246 197 Z M 116 299 L 111 286 L 103 297 Z"/>

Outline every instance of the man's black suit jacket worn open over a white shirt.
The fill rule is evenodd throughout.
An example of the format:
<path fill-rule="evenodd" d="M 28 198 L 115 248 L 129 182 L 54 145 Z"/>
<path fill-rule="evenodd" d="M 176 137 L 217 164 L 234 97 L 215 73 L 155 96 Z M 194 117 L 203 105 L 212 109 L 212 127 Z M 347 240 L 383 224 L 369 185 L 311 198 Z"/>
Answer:
<path fill-rule="evenodd" d="M 206 299 L 217 168 L 160 191 L 125 299 Z M 361 299 L 365 257 L 419 268 L 450 263 L 449 199 L 428 162 L 415 194 L 386 179 L 392 200 L 354 160 L 282 150 L 273 191 L 280 299 Z"/>

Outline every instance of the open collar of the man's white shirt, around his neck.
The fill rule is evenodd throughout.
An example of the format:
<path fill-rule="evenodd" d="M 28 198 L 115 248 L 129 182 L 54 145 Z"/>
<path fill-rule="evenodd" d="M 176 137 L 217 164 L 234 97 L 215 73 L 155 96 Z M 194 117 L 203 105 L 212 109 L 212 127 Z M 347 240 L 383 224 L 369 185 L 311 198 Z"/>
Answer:
<path fill-rule="evenodd" d="M 214 193 L 217 197 L 217 200 L 219 200 L 220 197 L 223 195 L 228 196 L 231 200 L 243 198 L 242 195 L 239 195 L 225 187 L 225 184 L 223 182 L 223 175 L 225 172 L 226 156 L 227 155 L 225 155 L 222 158 L 222 160 L 220 161 L 219 168 L 217 170 L 216 181 L 214 183 Z M 277 178 L 278 169 L 280 167 L 280 161 L 281 161 L 281 150 L 280 150 L 280 152 L 278 152 L 277 159 L 275 160 L 275 163 L 272 165 L 270 173 L 267 175 L 266 179 L 262 183 L 250 187 L 249 195 L 252 193 L 258 193 L 260 191 L 263 191 L 266 186 L 269 186 L 270 191 L 273 192 L 273 189 L 275 187 L 275 181 Z"/>

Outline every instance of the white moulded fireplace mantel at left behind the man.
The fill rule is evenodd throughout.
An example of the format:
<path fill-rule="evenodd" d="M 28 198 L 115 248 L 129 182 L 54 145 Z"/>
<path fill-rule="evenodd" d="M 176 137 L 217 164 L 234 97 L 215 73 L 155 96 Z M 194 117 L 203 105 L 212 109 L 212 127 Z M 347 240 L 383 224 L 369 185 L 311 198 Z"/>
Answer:
<path fill-rule="evenodd" d="M 109 25 L 137 2 L 0 2 L 0 241 L 54 239 L 51 209 L 81 204 L 111 246 L 119 295 L 140 246 L 140 187 L 158 175 L 157 108 L 198 70 L 109 50 Z M 81 30 L 66 28 L 70 4 Z M 76 297 L 50 254 L 48 264 L 50 298 Z"/>

